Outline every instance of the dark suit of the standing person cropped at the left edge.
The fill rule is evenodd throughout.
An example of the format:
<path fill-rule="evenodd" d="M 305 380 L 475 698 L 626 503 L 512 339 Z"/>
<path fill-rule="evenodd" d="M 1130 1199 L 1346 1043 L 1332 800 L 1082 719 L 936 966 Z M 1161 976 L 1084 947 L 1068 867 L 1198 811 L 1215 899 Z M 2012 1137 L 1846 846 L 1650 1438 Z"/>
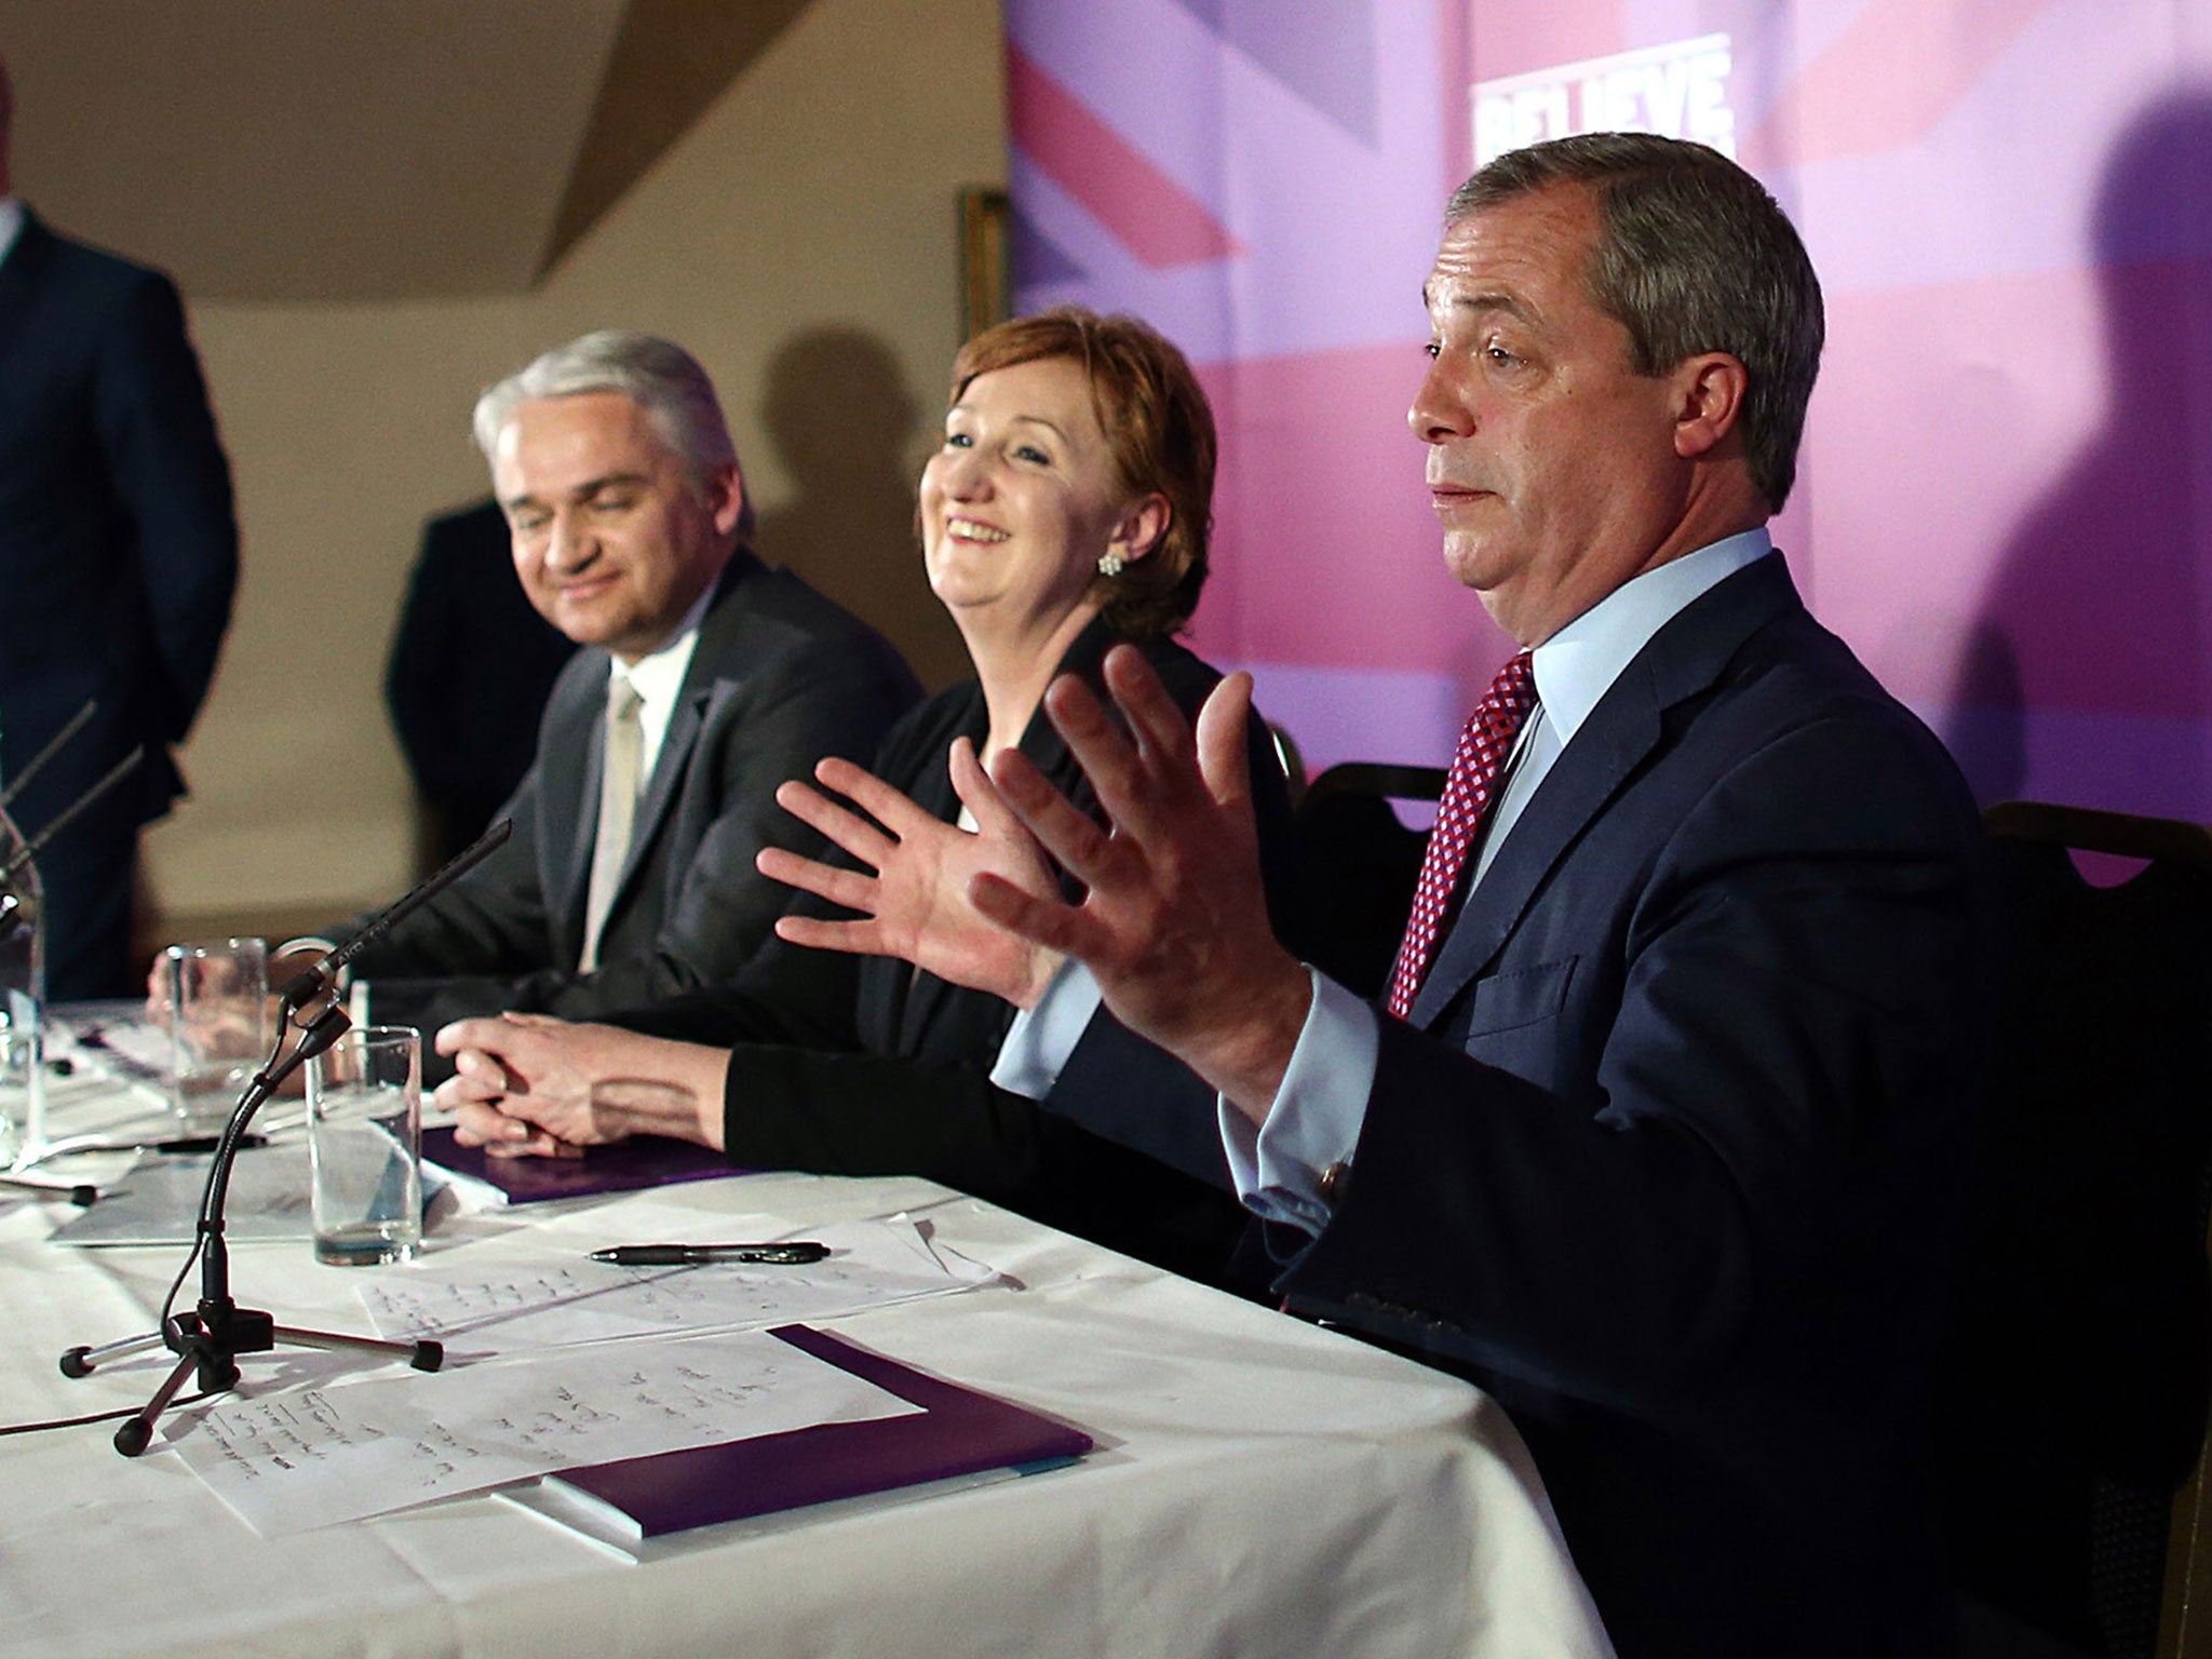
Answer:
<path fill-rule="evenodd" d="M 137 827 L 215 675 L 239 535 L 177 288 L 24 212 L 0 259 L 0 779 L 100 714 L 15 799 L 27 834 L 135 745 L 146 761 L 40 856 L 46 987 L 126 995 Z"/>

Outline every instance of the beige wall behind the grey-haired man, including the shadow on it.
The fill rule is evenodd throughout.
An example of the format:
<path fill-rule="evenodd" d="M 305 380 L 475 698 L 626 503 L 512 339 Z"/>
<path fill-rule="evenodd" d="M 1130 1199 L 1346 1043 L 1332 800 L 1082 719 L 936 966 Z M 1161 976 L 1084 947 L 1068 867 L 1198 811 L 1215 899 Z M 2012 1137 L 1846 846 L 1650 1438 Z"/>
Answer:
<path fill-rule="evenodd" d="M 411 801 L 380 675 L 425 515 L 484 491 L 476 392 L 588 327 L 714 374 L 761 553 L 942 684 L 911 484 L 958 345 L 956 192 L 1004 179 L 998 0 L 816 0 L 535 292 L 192 307 L 246 577 L 146 838 L 166 916 L 341 916 L 405 885 Z M 336 186 L 334 186 L 336 188 Z"/>

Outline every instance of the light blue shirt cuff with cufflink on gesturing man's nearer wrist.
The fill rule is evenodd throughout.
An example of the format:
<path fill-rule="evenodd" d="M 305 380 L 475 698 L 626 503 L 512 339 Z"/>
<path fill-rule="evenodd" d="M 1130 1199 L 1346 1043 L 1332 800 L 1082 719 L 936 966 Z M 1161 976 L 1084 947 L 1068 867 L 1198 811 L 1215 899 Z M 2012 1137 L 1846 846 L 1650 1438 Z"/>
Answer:
<path fill-rule="evenodd" d="M 1367 1002 L 1318 969 L 1307 973 L 1314 978 L 1314 1006 L 1274 1091 L 1267 1121 L 1254 1126 L 1225 1099 L 1219 1113 L 1221 1146 L 1245 1208 L 1261 1221 L 1287 1221 L 1318 1234 L 1329 1223 L 1323 1179 L 1352 1157 L 1367 1121 L 1380 1033 Z"/>

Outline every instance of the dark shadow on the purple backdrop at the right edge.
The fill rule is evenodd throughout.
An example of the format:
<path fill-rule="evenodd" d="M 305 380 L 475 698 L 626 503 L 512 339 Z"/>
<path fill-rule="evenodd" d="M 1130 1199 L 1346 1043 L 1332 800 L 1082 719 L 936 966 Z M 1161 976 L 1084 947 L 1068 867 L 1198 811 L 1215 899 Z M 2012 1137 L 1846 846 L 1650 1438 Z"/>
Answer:
<path fill-rule="evenodd" d="M 2212 818 L 2212 93 L 2130 124 L 2097 197 L 2095 257 L 2106 422 L 1993 566 L 1944 741 L 1984 803 L 2033 790 Z"/>

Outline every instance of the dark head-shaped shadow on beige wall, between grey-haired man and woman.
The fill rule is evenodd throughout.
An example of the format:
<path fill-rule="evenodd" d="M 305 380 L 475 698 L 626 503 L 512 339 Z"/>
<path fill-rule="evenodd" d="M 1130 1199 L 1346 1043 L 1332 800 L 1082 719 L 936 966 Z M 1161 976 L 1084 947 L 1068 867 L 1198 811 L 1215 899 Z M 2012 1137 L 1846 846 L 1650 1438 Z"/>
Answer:
<path fill-rule="evenodd" d="M 847 327 L 792 336 L 768 365 L 761 420 L 794 495 L 761 513 L 754 551 L 872 624 L 938 690 L 964 679 L 969 659 L 914 535 L 916 414 L 883 341 Z"/>

